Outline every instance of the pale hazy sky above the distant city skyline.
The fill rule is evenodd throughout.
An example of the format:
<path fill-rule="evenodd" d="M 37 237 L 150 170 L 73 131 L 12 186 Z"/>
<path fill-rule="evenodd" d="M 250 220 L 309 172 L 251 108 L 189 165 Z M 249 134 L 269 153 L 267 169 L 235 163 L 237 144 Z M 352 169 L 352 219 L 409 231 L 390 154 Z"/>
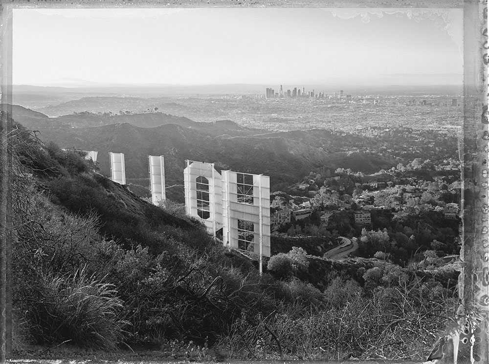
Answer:
<path fill-rule="evenodd" d="M 366 22 L 317 8 L 18 9 L 13 83 L 302 85 L 384 74 L 461 82 L 461 10 L 449 15 L 452 36 L 433 20 Z"/>

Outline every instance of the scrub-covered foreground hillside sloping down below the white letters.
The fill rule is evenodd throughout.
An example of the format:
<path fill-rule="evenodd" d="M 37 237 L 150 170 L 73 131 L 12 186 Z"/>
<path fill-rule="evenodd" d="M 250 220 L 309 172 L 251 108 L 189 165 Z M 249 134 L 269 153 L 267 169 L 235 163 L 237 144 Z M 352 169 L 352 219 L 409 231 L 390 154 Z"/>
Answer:
<path fill-rule="evenodd" d="M 118 128 L 131 139 L 150 130 Z M 180 139 L 191 132 L 171 128 Z M 80 153 L 43 145 L 22 128 L 14 137 L 17 357 L 36 343 L 129 345 L 186 359 L 419 360 L 440 317 L 454 310 L 447 282 L 371 259 L 333 262 L 296 247 L 272 256 L 260 276 L 256 262 L 198 221 L 139 199 Z"/>

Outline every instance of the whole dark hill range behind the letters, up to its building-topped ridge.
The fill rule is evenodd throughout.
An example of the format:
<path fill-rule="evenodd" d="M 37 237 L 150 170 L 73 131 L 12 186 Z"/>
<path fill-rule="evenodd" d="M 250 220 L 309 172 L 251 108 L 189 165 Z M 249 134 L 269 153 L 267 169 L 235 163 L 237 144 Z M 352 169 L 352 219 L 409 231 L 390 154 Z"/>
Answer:
<path fill-rule="evenodd" d="M 230 120 L 198 123 L 161 113 L 112 116 L 86 113 L 48 118 L 15 107 L 14 118 L 28 129 L 39 130 L 39 137 L 45 142 L 54 141 L 62 148 L 98 151 L 100 170 L 106 176 L 110 174 L 108 153 L 124 153 L 128 182 L 143 187 L 149 184 L 148 155 L 165 156 L 167 185 L 183 184 L 184 161 L 190 159 L 214 162 L 218 169 L 268 175 L 272 190 L 296 183 L 319 167 L 376 172 L 395 165 L 394 161 L 378 156 L 352 157 L 346 152 L 326 152 L 321 145 L 335 140 L 329 131 L 311 131 L 314 137 L 308 142 L 307 132 L 266 134 L 264 130 L 246 129 Z M 100 125 L 95 126 L 96 123 Z M 181 191 L 175 194 L 181 195 Z"/>

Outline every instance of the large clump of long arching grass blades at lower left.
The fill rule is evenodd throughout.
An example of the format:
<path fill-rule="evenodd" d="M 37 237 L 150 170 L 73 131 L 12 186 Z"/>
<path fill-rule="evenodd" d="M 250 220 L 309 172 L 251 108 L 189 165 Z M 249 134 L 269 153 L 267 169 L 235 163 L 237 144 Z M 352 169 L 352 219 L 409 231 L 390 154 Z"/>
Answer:
<path fill-rule="evenodd" d="M 37 341 L 117 348 L 128 322 L 121 317 L 123 302 L 113 285 L 87 277 L 83 270 L 73 276 L 46 274 L 43 283 L 27 314 Z"/>

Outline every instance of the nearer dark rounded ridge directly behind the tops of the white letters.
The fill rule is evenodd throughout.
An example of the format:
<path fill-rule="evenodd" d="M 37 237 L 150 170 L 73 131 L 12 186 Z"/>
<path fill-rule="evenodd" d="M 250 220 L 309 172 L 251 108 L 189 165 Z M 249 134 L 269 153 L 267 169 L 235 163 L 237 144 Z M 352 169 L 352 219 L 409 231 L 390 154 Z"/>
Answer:
<path fill-rule="evenodd" d="M 272 176 L 272 184 L 292 183 L 328 155 L 307 144 L 284 138 L 219 138 L 176 124 L 141 128 L 129 123 L 85 128 L 43 128 L 41 139 L 63 148 L 97 150 L 104 174 L 109 152 L 125 153 L 127 178 L 147 177 L 148 155 L 165 156 L 168 184 L 182 184 L 185 159 L 216 163 L 219 169 Z"/>

